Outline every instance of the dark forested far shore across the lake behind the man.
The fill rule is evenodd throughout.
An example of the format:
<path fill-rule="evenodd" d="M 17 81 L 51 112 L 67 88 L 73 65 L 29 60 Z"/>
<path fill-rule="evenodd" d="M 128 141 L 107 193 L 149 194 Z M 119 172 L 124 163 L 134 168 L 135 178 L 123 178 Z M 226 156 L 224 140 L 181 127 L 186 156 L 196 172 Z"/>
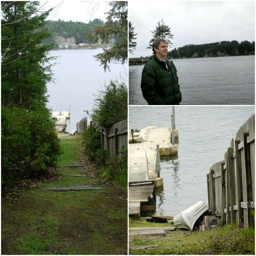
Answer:
<path fill-rule="evenodd" d="M 233 40 L 231 42 L 221 41 L 215 43 L 205 43 L 201 45 L 185 45 L 169 51 L 167 58 L 200 58 L 238 55 L 255 55 L 255 42 L 242 41 L 239 43 L 238 41 Z M 129 64 L 143 63 L 152 57 L 153 56 L 129 58 Z"/>

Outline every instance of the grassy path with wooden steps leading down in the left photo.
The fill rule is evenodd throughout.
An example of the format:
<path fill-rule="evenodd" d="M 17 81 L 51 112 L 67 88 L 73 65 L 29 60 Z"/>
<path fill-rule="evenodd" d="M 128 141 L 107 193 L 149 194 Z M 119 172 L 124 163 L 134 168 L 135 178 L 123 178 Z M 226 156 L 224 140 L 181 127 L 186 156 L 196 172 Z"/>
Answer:
<path fill-rule="evenodd" d="M 79 139 L 61 138 L 61 165 L 77 163 Z M 91 167 L 61 167 L 58 173 L 62 177 L 39 186 L 101 184 Z M 127 254 L 126 198 L 113 188 L 66 192 L 26 188 L 16 200 L 2 199 L 1 254 Z"/>

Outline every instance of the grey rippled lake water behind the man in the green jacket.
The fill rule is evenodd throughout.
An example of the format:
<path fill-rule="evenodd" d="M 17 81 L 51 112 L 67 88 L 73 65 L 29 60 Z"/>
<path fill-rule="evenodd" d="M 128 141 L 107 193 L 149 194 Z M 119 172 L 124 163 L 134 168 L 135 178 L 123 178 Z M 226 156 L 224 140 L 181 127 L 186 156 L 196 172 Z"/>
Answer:
<path fill-rule="evenodd" d="M 254 105 L 255 56 L 174 59 L 182 105 Z M 129 104 L 147 105 L 141 92 L 144 65 L 129 66 Z"/>

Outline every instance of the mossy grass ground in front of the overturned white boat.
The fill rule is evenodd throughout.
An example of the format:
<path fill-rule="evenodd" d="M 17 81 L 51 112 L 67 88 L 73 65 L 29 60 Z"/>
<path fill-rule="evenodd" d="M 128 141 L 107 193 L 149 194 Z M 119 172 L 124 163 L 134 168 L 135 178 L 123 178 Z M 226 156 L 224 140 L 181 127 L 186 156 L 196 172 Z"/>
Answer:
<path fill-rule="evenodd" d="M 129 219 L 129 227 L 170 226 Z M 129 236 L 129 248 L 158 245 L 156 248 L 129 250 L 130 255 L 250 255 L 255 254 L 255 229 L 227 225 L 204 232 L 172 231 L 163 236 Z"/>

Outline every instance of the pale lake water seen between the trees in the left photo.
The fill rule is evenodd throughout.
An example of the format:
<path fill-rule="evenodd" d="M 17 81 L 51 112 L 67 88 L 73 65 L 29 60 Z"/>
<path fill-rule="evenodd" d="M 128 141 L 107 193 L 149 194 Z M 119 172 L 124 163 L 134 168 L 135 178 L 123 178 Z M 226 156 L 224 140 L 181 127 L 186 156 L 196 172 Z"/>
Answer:
<path fill-rule="evenodd" d="M 67 131 L 76 129 L 76 123 L 83 117 L 87 116 L 89 123 L 90 118 L 84 110 L 91 114 L 95 94 L 98 94 L 97 90 L 104 89 L 105 83 L 108 84 L 111 79 L 120 81 L 120 76 L 127 80 L 127 64 L 125 70 L 123 65 L 111 63 L 111 72 L 104 72 L 93 57 L 102 52 L 102 48 L 49 51 L 50 56 L 59 57 L 52 62 L 58 64 L 52 68 L 55 83 L 47 85 L 47 106 L 53 111 L 69 111 L 70 107 L 71 118 L 67 120 Z"/>

